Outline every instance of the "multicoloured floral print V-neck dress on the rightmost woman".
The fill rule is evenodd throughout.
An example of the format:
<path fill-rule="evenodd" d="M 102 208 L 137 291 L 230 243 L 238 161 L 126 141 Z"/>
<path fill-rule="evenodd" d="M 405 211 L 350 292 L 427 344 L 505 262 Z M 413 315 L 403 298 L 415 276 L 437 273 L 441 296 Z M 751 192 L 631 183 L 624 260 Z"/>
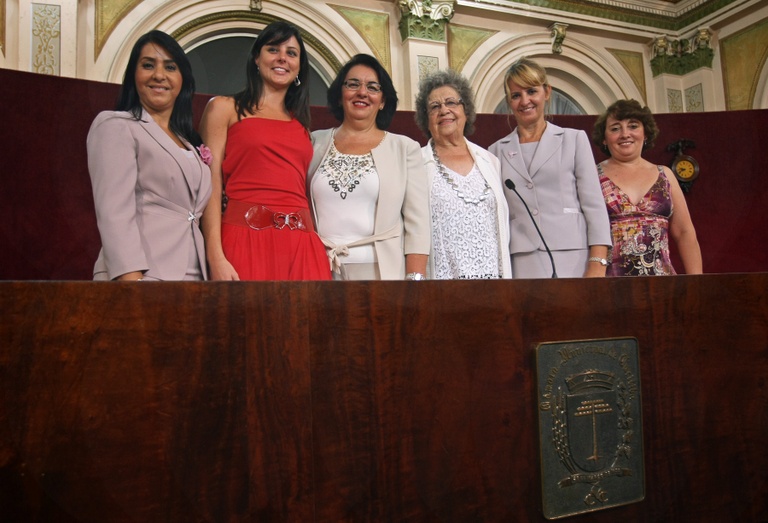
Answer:
<path fill-rule="evenodd" d="M 662 166 L 659 177 L 638 203 L 603 173 L 600 185 L 611 219 L 613 250 L 608 276 L 662 276 L 676 274 L 669 258 L 669 219 L 672 195 Z"/>

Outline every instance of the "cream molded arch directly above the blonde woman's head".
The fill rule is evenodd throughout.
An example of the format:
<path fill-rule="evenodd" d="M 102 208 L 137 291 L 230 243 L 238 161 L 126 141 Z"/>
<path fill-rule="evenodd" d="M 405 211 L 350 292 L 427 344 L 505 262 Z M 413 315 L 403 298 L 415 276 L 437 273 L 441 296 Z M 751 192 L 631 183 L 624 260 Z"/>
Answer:
<path fill-rule="evenodd" d="M 562 54 L 552 53 L 549 33 L 534 33 L 487 42 L 478 49 L 484 57 L 465 69 L 477 97 L 478 111 L 493 112 L 504 99 L 503 79 L 509 64 L 528 56 L 547 69 L 553 87 L 568 93 L 587 114 L 599 114 L 619 98 L 643 100 L 627 71 L 609 53 L 573 38 L 563 43 Z"/>

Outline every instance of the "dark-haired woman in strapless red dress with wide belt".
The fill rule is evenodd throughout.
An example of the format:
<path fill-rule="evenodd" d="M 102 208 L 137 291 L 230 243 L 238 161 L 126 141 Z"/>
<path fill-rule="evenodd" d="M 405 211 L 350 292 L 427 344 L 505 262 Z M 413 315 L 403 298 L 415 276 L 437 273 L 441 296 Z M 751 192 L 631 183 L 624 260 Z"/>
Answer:
<path fill-rule="evenodd" d="M 212 98 L 200 123 L 213 196 L 203 215 L 213 280 L 327 280 L 308 211 L 309 60 L 299 30 L 278 21 L 254 42 L 248 85 Z"/>

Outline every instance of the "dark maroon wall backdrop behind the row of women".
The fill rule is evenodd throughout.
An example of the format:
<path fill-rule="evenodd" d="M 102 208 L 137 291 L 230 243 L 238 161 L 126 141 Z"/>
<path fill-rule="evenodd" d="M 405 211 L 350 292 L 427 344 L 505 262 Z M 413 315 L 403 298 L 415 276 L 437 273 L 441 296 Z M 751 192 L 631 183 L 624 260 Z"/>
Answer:
<path fill-rule="evenodd" d="M 111 109 L 118 86 L 0 69 L 0 279 L 88 280 L 100 247 L 85 138 L 99 111 Z M 195 100 L 197 118 L 207 95 Z M 606 100 L 610 103 L 613 100 Z M 312 110 L 314 129 L 337 125 L 324 107 Z M 553 122 L 591 134 L 595 116 Z M 768 270 L 768 110 L 658 114 L 661 134 L 648 160 L 669 165 L 666 146 L 686 150 L 701 165 L 687 195 L 704 271 Z M 511 131 L 501 115 L 478 115 L 470 139 L 487 147 Z M 399 111 L 389 129 L 425 143 L 413 113 Z M 605 156 L 594 150 L 596 161 Z M 674 249 L 674 246 L 673 246 Z M 682 264 L 673 251 L 678 271 Z"/>

